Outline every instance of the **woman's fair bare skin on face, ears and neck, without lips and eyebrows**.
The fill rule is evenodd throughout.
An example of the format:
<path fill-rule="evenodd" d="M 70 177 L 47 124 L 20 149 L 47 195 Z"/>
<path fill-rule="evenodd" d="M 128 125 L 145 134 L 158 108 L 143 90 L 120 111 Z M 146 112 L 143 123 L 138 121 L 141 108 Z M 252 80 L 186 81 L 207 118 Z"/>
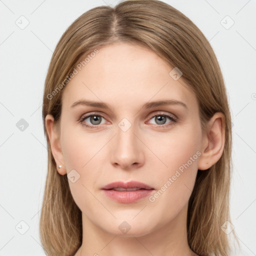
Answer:
<path fill-rule="evenodd" d="M 197 169 L 207 171 L 223 152 L 224 116 L 215 113 L 203 132 L 195 94 L 181 84 L 182 76 L 174 80 L 169 75 L 172 67 L 150 49 L 115 42 L 98 50 L 64 88 L 60 132 L 51 115 L 45 118 L 53 156 L 62 165 L 58 172 L 75 169 L 80 175 L 74 183 L 68 180 L 82 211 L 83 240 L 75 256 L 197 255 L 186 237 L 188 199 Z M 80 99 L 103 101 L 108 108 L 70 107 Z M 187 108 L 141 108 L 165 99 L 182 101 Z M 83 126 L 96 126 L 89 117 L 79 121 L 94 112 L 102 116 L 100 124 Z M 162 113 L 177 122 L 166 117 L 160 123 L 157 116 Z M 118 126 L 123 118 L 131 124 L 126 131 Z M 144 197 L 120 203 L 100 189 L 113 181 L 136 180 L 153 187 L 154 194 L 196 151 L 197 159 L 153 202 Z M 131 227 L 126 233 L 118 228 L 124 220 Z"/>

